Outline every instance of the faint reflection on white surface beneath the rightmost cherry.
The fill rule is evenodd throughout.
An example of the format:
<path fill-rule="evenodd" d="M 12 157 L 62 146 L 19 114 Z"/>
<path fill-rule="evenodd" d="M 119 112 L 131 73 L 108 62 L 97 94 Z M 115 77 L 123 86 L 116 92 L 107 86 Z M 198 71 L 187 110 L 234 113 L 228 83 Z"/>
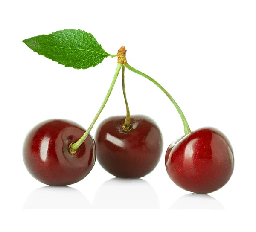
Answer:
<path fill-rule="evenodd" d="M 225 207 L 207 194 L 191 193 L 176 200 L 170 209 L 225 209 Z"/>

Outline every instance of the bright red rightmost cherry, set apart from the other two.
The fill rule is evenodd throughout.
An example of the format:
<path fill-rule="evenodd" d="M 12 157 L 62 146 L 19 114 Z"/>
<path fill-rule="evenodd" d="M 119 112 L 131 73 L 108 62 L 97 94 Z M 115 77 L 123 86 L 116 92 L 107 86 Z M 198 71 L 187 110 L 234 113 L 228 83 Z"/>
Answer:
<path fill-rule="evenodd" d="M 201 128 L 175 141 L 165 157 L 172 181 L 187 191 L 210 193 L 223 187 L 234 169 L 233 149 L 215 128 Z"/>

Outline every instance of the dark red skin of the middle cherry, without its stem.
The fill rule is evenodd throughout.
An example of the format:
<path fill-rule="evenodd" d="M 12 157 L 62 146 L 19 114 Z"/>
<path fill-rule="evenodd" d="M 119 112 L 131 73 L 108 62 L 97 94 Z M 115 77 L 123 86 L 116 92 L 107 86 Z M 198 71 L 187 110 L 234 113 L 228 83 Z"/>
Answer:
<path fill-rule="evenodd" d="M 125 116 L 105 119 L 96 131 L 97 160 L 110 174 L 121 178 L 140 178 L 157 166 L 163 139 L 153 119 L 132 115 L 129 131 L 122 130 Z"/>

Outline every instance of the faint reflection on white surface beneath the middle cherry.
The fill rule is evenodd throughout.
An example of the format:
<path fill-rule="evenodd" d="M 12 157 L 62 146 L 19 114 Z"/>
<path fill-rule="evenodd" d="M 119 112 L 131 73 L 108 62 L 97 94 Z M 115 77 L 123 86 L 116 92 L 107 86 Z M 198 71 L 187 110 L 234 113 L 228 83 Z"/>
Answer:
<path fill-rule="evenodd" d="M 93 200 L 94 209 L 159 209 L 154 188 L 142 179 L 113 178 L 103 183 Z"/>

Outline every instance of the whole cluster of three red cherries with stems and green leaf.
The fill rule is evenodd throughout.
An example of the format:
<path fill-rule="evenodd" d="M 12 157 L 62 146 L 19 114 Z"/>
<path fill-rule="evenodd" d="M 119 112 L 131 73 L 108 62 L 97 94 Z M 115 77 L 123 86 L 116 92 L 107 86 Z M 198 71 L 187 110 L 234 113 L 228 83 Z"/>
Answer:
<path fill-rule="evenodd" d="M 176 107 L 183 122 L 184 136 L 166 151 L 166 171 L 172 181 L 187 191 L 210 193 L 224 186 L 234 168 L 233 149 L 227 137 L 215 128 L 191 131 L 183 112 L 172 96 L 153 78 L 131 67 L 126 50 L 117 55 L 105 52 L 96 39 L 81 30 L 63 30 L 23 41 L 39 55 L 44 55 L 66 67 L 94 67 L 107 57 L 117 56 L 117 68 L 108 93 L 87 130 L 72 121 L 51 119 L 36 125 L 26 136 L 23 160 L 35 179 L 51 186 L 76 183 L 92 170 L 96 157 L 110 174 L 121 178 L 140 178 L 157 166 L 163 138 L 153 119 L 130 115 L 125 93 L 125 68 L 153 82 Z M 126 116 L 105 119 L 90 135 L 113 90 L 122 69 L 122 87 Z M 97 154 L 97 155 L 96 155 Z"/>

